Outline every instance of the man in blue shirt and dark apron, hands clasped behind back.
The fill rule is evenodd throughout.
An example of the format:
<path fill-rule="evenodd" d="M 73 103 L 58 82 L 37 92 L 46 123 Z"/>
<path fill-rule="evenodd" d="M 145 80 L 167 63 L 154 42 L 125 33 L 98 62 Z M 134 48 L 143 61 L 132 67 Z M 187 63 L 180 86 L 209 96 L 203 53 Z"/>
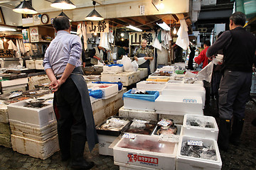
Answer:
<path fill-rule="evenodd" d="M 53 20 L 57 33 L 46 50 L 43 66 L 54 91 L 58 122 L 58 140 L 63 161 L 71 157 L 74 169 L 90 169 L 93 162 L 83 158 L 85 142 L 92 151 L 97 133 L 92 115 L 90 96 L 82 77 L 80 56 L 82 45 L 78 35 L 70 34 L 70 22 L 65 16 Z"/>

